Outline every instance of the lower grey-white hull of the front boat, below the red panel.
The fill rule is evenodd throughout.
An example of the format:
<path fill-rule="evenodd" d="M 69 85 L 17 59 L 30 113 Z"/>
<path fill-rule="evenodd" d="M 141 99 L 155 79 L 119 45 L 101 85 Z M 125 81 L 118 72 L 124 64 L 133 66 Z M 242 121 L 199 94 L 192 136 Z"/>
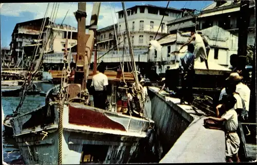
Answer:
<path fill-rule="evenodd" d="M 58 132 L 16 137 L 26 164 L 58 164 Z M 104 136 L 104 137 L 103 137 Z M 139 137 L 63 132 L 62 163 L 127 163 Z M 107 140 L 107 141 L 106 141 Z"/>

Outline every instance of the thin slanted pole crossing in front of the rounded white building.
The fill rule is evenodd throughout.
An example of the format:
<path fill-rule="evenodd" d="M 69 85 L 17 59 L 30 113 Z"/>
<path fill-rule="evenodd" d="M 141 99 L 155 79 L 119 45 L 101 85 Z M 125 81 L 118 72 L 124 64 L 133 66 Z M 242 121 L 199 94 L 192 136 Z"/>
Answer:
<path fill-rule="evenodd" d="M 136 62 L 135 62 L 135 60 L 134 60 L 134 51 L 133 51 L 133 47 L 132 47 L 132 45 L 131 45 L 130 29 L 128 29 L 128 24 L 127 24 L 127 12 L 126 12 L 126 7 L 125 7 L 125 3 L 124 3 L 124 2 L 122 2 L 122 8 L 123 8 L 124 18 L 125 18 L 125 25 L 126 25 L 126 31 L 127 31 L 127 40 L 128 40 L 128 47 L 130 48 L 130 55 L 131 55 L 131 59 L 133 60 L 136 85 L 138 85 L 138 84 L 139 84 L 139 80 L 138 80 L 138 77 L 137 77 Z M 138 87 L 138 86 L 137 86 L 137 87 Z"/>

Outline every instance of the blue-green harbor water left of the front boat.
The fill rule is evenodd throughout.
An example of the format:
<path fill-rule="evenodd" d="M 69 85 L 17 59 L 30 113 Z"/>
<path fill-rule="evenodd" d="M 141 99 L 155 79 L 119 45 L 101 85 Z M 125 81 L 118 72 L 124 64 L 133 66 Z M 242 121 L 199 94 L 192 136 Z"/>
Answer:
<path fill-rule="evenodd" d="M 20 97 L 2 97 L 2 106 L 5 116 L 12 114 L 13 110 L 19 105 Z M 21 113 L 29 112 L 39 106 L 45 104 L 45 97 L 40 95 L 26 96 L 23 106 L 21 108 Z M 15 140 L 12 136 L 5 133 L 3 128 L 3 157 L 4 161 L 8 164 L 24 164 L 22 154 L 19 148 L 15 145 Z"/>

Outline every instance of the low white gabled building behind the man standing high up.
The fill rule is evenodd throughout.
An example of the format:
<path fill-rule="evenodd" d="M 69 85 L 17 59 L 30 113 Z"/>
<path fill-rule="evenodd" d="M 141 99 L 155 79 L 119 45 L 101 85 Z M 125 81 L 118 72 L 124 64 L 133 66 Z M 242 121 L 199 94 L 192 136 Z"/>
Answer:
<path fill-rule="evenodd" d="M 238 37 L 218 26 L 201 30 L 201 32 L 206 36 L 211 47 L 208 56 L 209 63 L 229 66 L 230 55 L 237 52 Z M 187 42 L 189 37 L 190 32 L 187 32 L 168 34 L 158 39 L 159 44 L 162 46 L 161 52 L 157 50 L 151 50 L 149 52 L 150 61 L 154 63 L 155 70 L 158 74 L 165 73 L 167 69 L 173 68 L 175 65 L 178 66 L 178 63 L 175 61 L 178 62 L 180 57 L 185 55 L 185 53 L 179 53 L 177 56 L 170 55 L 169 53 L 178 51 Z M 184 47 L 180 52 L 185 52 L 186 49 L 187 47 Z"/>

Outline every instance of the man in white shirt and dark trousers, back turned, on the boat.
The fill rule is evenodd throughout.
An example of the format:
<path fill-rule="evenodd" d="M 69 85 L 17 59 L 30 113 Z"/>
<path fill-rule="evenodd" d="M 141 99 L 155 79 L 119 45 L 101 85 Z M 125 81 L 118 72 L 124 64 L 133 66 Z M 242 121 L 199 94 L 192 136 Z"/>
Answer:
<path fill-rule="evenodd" d="M 105 68 L 103 65 L 99 65 L 98 67 L 99 73 L 94 75 L 92 78 L 91 87 L 94 87 L 94 106 L 96 108 L 100 108 L 105 110 L 106 108 L 106 100 L 107 100 L 107 85 L 108 85 L 108 78 L 104 74 Z"/>

